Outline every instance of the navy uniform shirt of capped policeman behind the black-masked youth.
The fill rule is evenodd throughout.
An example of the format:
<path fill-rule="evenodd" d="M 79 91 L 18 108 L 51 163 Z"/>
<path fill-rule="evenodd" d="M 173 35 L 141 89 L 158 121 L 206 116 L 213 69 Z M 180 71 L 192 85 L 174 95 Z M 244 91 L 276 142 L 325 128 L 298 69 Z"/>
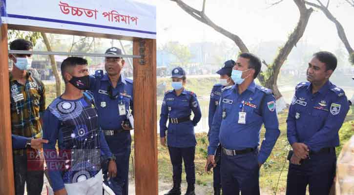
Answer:
<path fill-rule="evenodd" d="M 113 99 L 110 98 L 110 90 Z M 125 110 L 133 110 L 133 80 L 124 78 L 121 74 L 116 88 L 112 87 L 107 74 L 102 70 L 97 70 L 95 75 L 90 76 L 90 91 L 93 94 L 99 116 L 99 124 L 104 130 L 122 130 L 122 121 L 126 115 L 120 116 L 119 104 L 125 104 Z M 130 131 L 124 131 L 114 136 L 115 148 L 130 147 Z M 108 144 L 111 145 L 109 140 Z M 113 152 L 113 151 L 112 151 Z"/>

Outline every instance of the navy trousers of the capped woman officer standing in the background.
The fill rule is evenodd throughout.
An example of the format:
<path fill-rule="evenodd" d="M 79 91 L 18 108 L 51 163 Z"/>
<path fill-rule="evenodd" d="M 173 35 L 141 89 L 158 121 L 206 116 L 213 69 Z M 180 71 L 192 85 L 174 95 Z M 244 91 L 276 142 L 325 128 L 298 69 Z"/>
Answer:
<path fill-rule="evenodd" d="M 185 163 L 186 179 L 188 184 L 195 184 L 195 147 L 174 148 L 168 146 L 169 157 L 172 163 L 173 182 L 182 181 L 182 159 Z"/>

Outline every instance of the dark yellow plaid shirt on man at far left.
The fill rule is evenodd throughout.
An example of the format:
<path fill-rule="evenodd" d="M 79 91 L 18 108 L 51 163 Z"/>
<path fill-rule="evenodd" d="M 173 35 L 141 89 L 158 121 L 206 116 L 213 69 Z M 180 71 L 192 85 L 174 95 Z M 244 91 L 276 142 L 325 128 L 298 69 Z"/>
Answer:
<path fill-rule="evenodd" d="M 26 75 L 24 85 L 17 82 L 10 73 L 10 112 L 13 135 L 35 137 L 41 135 L 40 117 L 45 110 L 45 89 L 42 81 Z M 14 149 L 14 154 L 22 154 L 22 149 Z"/>

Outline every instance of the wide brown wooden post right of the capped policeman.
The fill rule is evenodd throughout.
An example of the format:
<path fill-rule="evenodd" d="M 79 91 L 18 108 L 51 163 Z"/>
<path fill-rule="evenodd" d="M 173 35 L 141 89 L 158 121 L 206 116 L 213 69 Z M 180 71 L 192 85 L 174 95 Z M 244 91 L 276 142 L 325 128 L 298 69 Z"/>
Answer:
<path fill-rule="evenodd" d="M 135 194 L 158 195 L 156 40 L 135 39 L 133 54 Z"/>

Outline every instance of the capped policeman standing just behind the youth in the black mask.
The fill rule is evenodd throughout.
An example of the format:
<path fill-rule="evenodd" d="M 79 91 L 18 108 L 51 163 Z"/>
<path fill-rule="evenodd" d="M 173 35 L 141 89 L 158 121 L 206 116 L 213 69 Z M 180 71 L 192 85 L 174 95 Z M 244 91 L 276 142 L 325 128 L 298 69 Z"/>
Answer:
<path fill-rule="evenodd" d="M 105 54 L 122 55 L 122 51 L 112 47 Z M 99 123 L 105 139 L 116 157 L 118 174 L 105 183 L 109 184 L 116 195 L 128 195 L 131 128 L 124 121 L 127 120 L 127 112 L 133 108 L 133 80 L 124 78 L 122 74 L 124 59 L 106 57 L 104 61 L 106 73 L 98 70 L 90 77 L 90 91 L 97 104 Z M 104 165 L 103 169 L 106 170 Z"/>

